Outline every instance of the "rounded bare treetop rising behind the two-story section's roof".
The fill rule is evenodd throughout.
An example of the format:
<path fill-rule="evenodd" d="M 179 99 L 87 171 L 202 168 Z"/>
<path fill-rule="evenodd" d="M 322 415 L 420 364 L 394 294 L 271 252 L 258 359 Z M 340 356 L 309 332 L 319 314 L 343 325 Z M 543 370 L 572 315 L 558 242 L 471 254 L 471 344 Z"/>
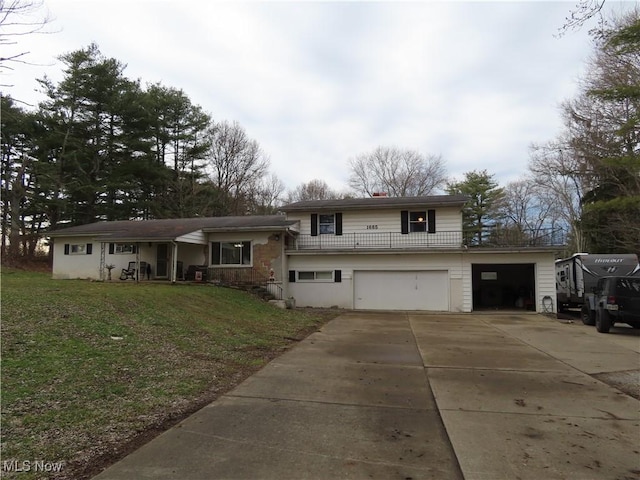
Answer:
<path fill-rule="evenodd" d="M 378 147 L 351 159 L 349 164 L 349 186 L 366 196 L 377 192 L 392 197 L 429 195 L 446 182 L 442 158 L 416 150 Z"/>

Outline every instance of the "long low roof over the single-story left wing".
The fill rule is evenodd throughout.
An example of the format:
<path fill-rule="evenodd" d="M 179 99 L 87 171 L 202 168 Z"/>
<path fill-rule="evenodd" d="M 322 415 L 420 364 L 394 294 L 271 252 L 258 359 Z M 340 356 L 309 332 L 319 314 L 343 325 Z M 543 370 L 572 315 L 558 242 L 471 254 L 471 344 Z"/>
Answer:
<path fill-rule="evenodd" d="M 104 240 L 175 240 L 197 231 L 286 229 L 297 221 L 284 215 L 236 217 L 170 218 L 161 220 L 118 220 L 53 230 L 50 237 L 94 236 Z"/>

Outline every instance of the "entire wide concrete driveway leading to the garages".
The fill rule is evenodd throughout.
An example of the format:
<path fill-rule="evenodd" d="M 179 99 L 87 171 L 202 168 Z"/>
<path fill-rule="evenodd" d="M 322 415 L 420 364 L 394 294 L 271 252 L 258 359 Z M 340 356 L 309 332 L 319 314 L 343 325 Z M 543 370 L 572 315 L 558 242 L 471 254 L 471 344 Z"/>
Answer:
<path fill-rule="evenodd" d="M 640 331 L 612 332 L 346 313 L 96 478 L 639 478 L 640 401 L 595 377 L 638 382 Z"/>

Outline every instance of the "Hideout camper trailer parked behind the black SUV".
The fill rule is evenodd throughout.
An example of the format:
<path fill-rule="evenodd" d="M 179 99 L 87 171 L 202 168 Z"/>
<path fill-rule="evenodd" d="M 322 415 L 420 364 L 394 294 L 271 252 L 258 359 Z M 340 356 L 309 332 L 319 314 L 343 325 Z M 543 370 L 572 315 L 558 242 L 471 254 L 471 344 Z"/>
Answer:
<path fill-rule="evenodd" d="M 595 323 L 593 289 L 606 276 L 638 276 L 640 265 L 636 254 L 576 253 L 556 260 L 556 296 L 558 312 L 567 308 L 581 308 L 582 321 Z M 587 307 L 585 308 L 585 305 Z"/>

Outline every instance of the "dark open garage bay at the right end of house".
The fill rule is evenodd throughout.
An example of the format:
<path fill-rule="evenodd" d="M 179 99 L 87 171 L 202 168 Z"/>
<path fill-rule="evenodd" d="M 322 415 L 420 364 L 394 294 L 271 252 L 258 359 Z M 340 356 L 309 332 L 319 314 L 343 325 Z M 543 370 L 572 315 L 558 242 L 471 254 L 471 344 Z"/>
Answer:
<path fill-rule="evenodd" d="M 473 310 L 535 310 L 532 263 L 472 264 Z"/>

